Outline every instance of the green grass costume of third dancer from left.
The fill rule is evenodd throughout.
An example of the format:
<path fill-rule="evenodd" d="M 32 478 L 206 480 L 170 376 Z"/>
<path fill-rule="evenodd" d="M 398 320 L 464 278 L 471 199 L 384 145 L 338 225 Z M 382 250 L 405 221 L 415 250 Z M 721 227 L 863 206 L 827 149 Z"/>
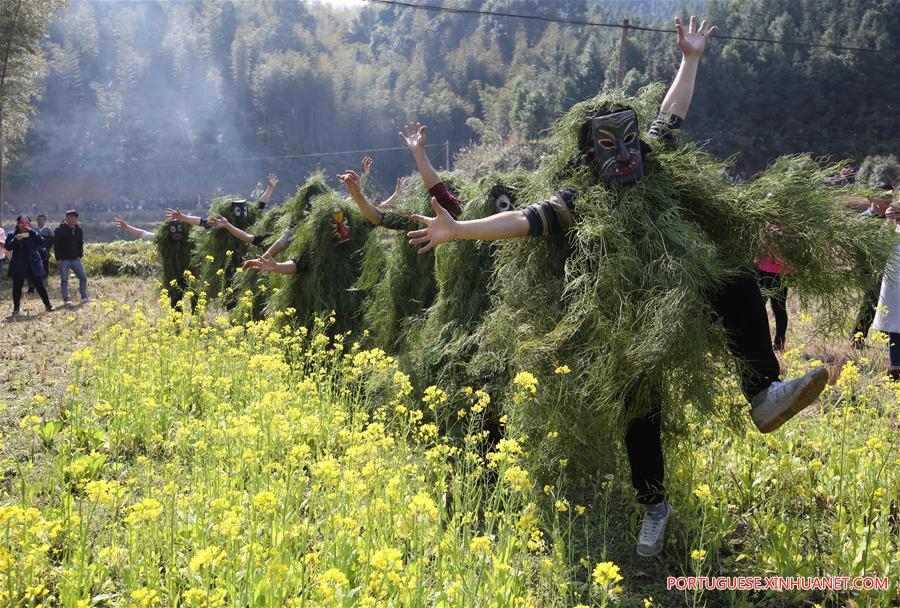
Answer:
<path fill-rule="evenodd" d="M 285 229 L 296 228 L 309 213 L 314 197 L 330 191 L 331 188 L 325 181 L 325 174 L 318 171 L 297 188 L 294 196 L 285 201 L 283 205 L 271 207 L 262 213 L 261 217 L 248 230 L 250 234 L 266 235 L 262 246 L 257 248 L 258 253 L 261 255 L 271 247 L 281 238 Z M 237 306 L 232 311 L 232 318 L 239 322 L 260 320 L 272 292 L 280 289 L 283 284 L 283 277 L 275 273 L 259 273 L 255 270 L 236 273 L 232 287 L 238 300 Z"/>

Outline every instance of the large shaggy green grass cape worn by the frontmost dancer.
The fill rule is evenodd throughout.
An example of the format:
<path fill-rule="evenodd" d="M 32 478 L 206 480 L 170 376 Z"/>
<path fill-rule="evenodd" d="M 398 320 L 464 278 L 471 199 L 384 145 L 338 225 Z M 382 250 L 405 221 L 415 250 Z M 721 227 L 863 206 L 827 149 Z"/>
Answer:
<path fill-rule="evenodd" d="M 795 271 L 794 292 L 820 307 L 824 327 L 851 309 L 856 269 L 884 267 L 890 254 L 878 227 L 823 185 L 831 167 L 800 163 L 734 186 L 720 176 L 725 163 L 700 147 L 647 138 L 646 174 L 632 186 L 598 185 L 591 167 L 572 168 L 582 124 L 630 107 L 646 126 L 662 91 L 607 91 L 575 105 L 555 125 L 555 152 L 521 201 L 574 188 L 575 230 L 497 248 L 496 306 L 476 336 L 470 373 L 505 375 L 508 392 L 517 372 L 536 376 L 534 398 L 504 403 L 511 432 L 530 438 L 545 470 L 567 459 L 573 472 L 596 471 L 598 443 L 659 406 L 669 429 L 688 404 L 731 422 L 746 418 L 708 294 L 747 272 L 760 247 L 778 248 Z"/>

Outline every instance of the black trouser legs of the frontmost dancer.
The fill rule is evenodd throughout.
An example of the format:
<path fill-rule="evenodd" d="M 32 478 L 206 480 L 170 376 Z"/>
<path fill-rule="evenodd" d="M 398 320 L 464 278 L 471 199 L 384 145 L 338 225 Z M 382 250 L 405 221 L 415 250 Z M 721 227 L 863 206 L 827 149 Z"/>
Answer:
<path fill-rule="evenodd" d="M 780 374 L 756 277 L 746 274 L 725 283 L 711 295 L 710 304 L 728 333 L 731 354 L 741 362 L 741 389 L 749 401 Z M 625 433 L 631 483 L 643 504 L 656 504 L 665 498 L 661 431 L 657 410 L 633 420 Z"/>

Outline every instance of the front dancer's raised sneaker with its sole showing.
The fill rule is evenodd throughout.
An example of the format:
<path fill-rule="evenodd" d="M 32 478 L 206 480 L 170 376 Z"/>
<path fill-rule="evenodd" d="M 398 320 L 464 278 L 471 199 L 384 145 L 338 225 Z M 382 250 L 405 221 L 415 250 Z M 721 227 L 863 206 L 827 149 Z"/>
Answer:
<path fill-rule="evenodd" d="M 810 405 L 828 384 L 828 370 L 820 365 L 787 382 L 773 382 L 750 402 L 756 428 L 771 433 Z"/>

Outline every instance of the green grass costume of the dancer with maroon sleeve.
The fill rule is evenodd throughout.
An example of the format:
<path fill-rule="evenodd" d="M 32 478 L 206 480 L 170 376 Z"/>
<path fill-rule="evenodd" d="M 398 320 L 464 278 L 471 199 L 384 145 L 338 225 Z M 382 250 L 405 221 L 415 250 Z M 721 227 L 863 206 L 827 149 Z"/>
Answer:
<path fill-rule="evenodd" d="M 459 176 L 442 173 L 441 179 L 451 192 L 460 195 L 464 182 Z M 418 176 L 410 181 L 411 188 L 384 215 L 382 226 L 391 231 L 386 265 L 373 277 L 377 278 L 375 283 L 360 285 L 371 290 L 365 303 L 366 328 L 375 344 L 392 353 L 406 350 L 408 322 L 431 306 L 437 294 L 434 256 L 419 255 L 406 236 L 407 231 L 420 227 L 409 219 L 410 215 L 434 215 L 431 195 Z"/>

